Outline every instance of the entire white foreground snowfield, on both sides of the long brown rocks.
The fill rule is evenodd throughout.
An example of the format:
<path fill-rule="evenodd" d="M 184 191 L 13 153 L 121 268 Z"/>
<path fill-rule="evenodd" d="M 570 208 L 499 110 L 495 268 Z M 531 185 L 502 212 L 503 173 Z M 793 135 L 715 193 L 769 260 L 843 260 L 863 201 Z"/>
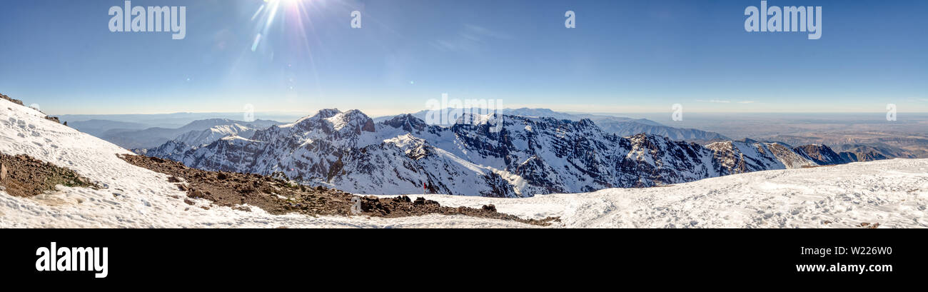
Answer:
<path fill-rule="evenodd" d="M 129 151 L 43 117 L 31 108 L 0 100 L 0 152 L 67 167 L 108 188 L 58 186 L 57 192 L 36 197 L 11 197 L 0 191 L 0 227 L 536 227 L 467 216 L 314 218 L 276 216 L 254 207 L 251 212 L 216 206 L 200 209 L 209 202 L 197 200 L 197 206 L 188 206 L 183 202 L 185 193 L 168 183 L 167 175 L 116 157 Z M 758 171 L 585 194 L 410 197 L 455 207 L 494 204 L 500 212 L 523 218 L 561 217 L 552 227 L 820 228 L 856 227 L 861 222 L 879 222 L 881 228 L 928 227 L 928 159 Z"/>

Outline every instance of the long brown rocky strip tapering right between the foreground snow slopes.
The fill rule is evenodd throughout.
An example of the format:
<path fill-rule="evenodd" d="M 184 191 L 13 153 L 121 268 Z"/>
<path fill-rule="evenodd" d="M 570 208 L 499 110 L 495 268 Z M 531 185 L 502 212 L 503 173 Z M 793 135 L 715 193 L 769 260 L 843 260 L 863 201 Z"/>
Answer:
<path fill-rule="evenodd" d="M 271 214 L 300 213 L 309 216 L 371 216 L 396 218 L 426 214 L 466 215 L 480 218 L 509 220 L 547 226 L 560 221 L 548 217 L 543 220 L 522 219 L 496 211 L 493 205 L 475 209 L 468 207 L 446 207 L 423 197 L 411 199 L 406 196 L 380 198 L 360 197 L 340 190 L 322 186 L 311 187 L 259 174 L 225 171 L 200 171 L 184 166 L 180 162 L 135 155 L 122 155 L 121 159 L 151 171 L 170 175 L 168 181 L 178 189 L 187 191 L 187 197 L 205 198 L 216 206 L 251 210 L 248 204 L 264 209 Z M 185 198 L 185 202 L 194 202 Z M 207 207 L 208 208 L 208 207 Z"/>

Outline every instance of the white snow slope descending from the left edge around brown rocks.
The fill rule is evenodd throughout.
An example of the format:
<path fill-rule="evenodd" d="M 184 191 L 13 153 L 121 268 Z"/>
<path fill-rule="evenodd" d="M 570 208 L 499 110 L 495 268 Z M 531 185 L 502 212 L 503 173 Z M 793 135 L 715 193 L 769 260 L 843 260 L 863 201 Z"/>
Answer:
<path fill-rule="evenodd" d="M 131 154 L 87 133 L 54 121 L 45 114 L 0 99 L 0 153 L 29 155 L 76 171 L 104 189 L 58 186 L 57 192 L 12 197 L 0 191 L 0 228 L 10 227 L 389 227 L 396 224 L 429 227 L 419 218 L 356 220 L 347 217 L 275 216 L 252 207 L 251 212 L 213 206 L 200 209 L 184 203 L 185 192 L 167 175 L 126 163 L 117 154 Z M 15 170 L 13 170 L 15 171 Z M 198 206 L 209 202 L 197 199 Z M 432 218 L 425 216 L 425 218 Z M 444 216 L 440 217 L 445 219 Z M 438 218 L 433 218 L 438 221 Z M 455 221 L 454 218 L 447 220 Z M 464 218 L 469 220 L 469 218 Z M 515 222 L 476 222 L 490 227 Z"/>

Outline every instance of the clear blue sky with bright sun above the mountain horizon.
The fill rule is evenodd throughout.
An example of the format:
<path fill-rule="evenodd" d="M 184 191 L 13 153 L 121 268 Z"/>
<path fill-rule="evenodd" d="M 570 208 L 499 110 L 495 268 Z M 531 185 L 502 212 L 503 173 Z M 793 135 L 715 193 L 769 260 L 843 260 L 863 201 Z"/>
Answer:
<path fill-rule="evenodd" d="M 808 40 L 745 32 L 760 1 L 282 0 L 252 51 L 268 4 L 132 1 L 187 6 L 187 36 L 172 40 L 110 32 L 122 0 L 5 1 L 0 93 L 52 114 L 378 116 L 443 93 L 586 112 L 928 111 L 928 1 L 769 1 L 822 6 L 822 37 Z"/>

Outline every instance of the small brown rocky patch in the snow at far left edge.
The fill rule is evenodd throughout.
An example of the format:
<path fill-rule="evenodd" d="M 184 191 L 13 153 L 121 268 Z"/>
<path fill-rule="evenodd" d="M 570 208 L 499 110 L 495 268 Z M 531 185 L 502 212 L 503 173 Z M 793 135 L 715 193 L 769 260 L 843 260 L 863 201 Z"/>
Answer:
<path fill-rule="evenodd" d="M 0 154 L 0 190 L 10 196 L 32 197 L 56 190 L 56 185 L 97 187 L 66 168 L 25 155 Z"/>

